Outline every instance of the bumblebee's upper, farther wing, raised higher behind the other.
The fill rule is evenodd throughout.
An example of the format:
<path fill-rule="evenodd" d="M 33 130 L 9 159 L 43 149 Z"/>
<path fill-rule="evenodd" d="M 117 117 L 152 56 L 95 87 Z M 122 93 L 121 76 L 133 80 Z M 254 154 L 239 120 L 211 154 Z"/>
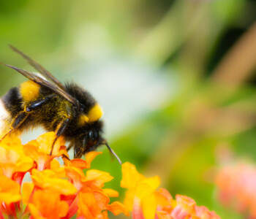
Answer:
<path fill-rule="evenodd" d="M 15 51 L 15 53 L 18 53 L 23 58 L 25 58 L 26 61 L 28 61 L 28 63 L 31 66 L 33 66 L 34 69 L 36 69 L 38 72 L 40 72 L 46 79 L 48 79 L 48 80 L 52 81 L 53 83 L 55 83 L 59 88 L 61 88 L 62 91 L 66 90 L 64 88 L 64 85 L 62 85 L 61 82 L 59 82 L 59 80 L 57 80 L 56 77 L 53 76 L 53 74 L 50 74 L 50 72 L 48 72 L 48 70 L 46 70 L 43 66 L 41 66 L 36 61 L 34 61 L 34 59 L 30 58 L 29 55 L 26 55 L 26 54 L 22 53 L 20 50 L 18 50 L 17 48 L 13 47 L 12 45 L 10 45 L 10 47 L 11 47 L 11 49 L 13 51 Z"/>

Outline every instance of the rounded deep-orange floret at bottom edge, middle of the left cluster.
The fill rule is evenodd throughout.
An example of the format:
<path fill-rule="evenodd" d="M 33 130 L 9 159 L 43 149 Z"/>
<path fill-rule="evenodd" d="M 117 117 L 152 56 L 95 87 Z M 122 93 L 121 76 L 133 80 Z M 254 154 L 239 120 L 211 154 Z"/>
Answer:
<path fill-rule="evenodd" d="M 29 210 L 34 219 L 57 219 L 67 215 L 69 205 L 60 200 L 59 193 L 37 190 Z"/>

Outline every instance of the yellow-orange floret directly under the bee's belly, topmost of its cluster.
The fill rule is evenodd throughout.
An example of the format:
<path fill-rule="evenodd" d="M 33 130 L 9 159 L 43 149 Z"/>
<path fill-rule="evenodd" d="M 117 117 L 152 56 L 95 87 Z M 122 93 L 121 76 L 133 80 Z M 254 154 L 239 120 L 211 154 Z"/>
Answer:
<path fill-rule="evenodd" d="M 64 146 L 65 142 L 61 137 L 56 140 L 53 153 L 50 155 L 50 150 L 55 139 L 56 134 L 51 131 L 40 135 L 36 140 L 32 140 L 24 145 L 24 153 L 37 163 L 37 169 L 43 170 L 53 158 L 61 156 L 61 154 L 67 155 L 66 147 Z"/>

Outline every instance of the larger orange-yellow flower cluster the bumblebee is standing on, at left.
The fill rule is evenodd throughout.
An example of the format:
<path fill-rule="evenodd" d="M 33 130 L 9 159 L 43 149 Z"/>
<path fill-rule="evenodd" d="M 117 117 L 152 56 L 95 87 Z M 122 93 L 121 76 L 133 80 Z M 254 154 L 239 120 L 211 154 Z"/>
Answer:
<path fill-rule="evenodd" d="M 103 188 L 113 177 L 89 169 L 99 152 L 69 160 L 64 140 L 57 139 L 50 154 L 54 132 L 22 145 L 20 139 L 4 139 L 0 144 L 0 218 L 108 218 L 108 211 L 129 215 L 124 204 L 111 196 L 118 192 Z M 55 158 L 62 156 L 61 166 Z M 87 170 L 86 174 L 83 173 Z M 29 174 L 31 183 L 23 183 Z"/>

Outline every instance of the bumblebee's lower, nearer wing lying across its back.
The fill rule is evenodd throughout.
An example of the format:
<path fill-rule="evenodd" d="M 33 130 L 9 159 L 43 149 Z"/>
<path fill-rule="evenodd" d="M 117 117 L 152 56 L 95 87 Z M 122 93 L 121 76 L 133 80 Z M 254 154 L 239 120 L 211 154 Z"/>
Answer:
<path fill-rule="evenodd" d="M 61 96 L 61 98 L 66 99 L 71 104 L 75 105 L 76 107 L 79 107 L 78 101 L 75 98 L 73 98 L 72 96 L 70 96 L 69 93 L 67 93 L 66 91 L 63 91 L 61 88 L 59 88 L 57 85 L 55 85 L 51 82 L 48 82 L 48 80 L 44 80 L 42 77 L 39 77 L 36 74 L 33 74 L 33 73 L 28 72 L 26 70 L 19 69 L 15 66 L 10 66 L 8 64 L 4 64 L 4 65 L 8 66 L 12 69 L 15 69 L 17 72 L 19 72 L 20 74 L 22 74 L 23 76 L 25 76 L 29 80 L 37 83 L 38 85 L 41 85 L 45 88 L 50 89 L 54 93 L 57 93 L 59 96 Z"/>

